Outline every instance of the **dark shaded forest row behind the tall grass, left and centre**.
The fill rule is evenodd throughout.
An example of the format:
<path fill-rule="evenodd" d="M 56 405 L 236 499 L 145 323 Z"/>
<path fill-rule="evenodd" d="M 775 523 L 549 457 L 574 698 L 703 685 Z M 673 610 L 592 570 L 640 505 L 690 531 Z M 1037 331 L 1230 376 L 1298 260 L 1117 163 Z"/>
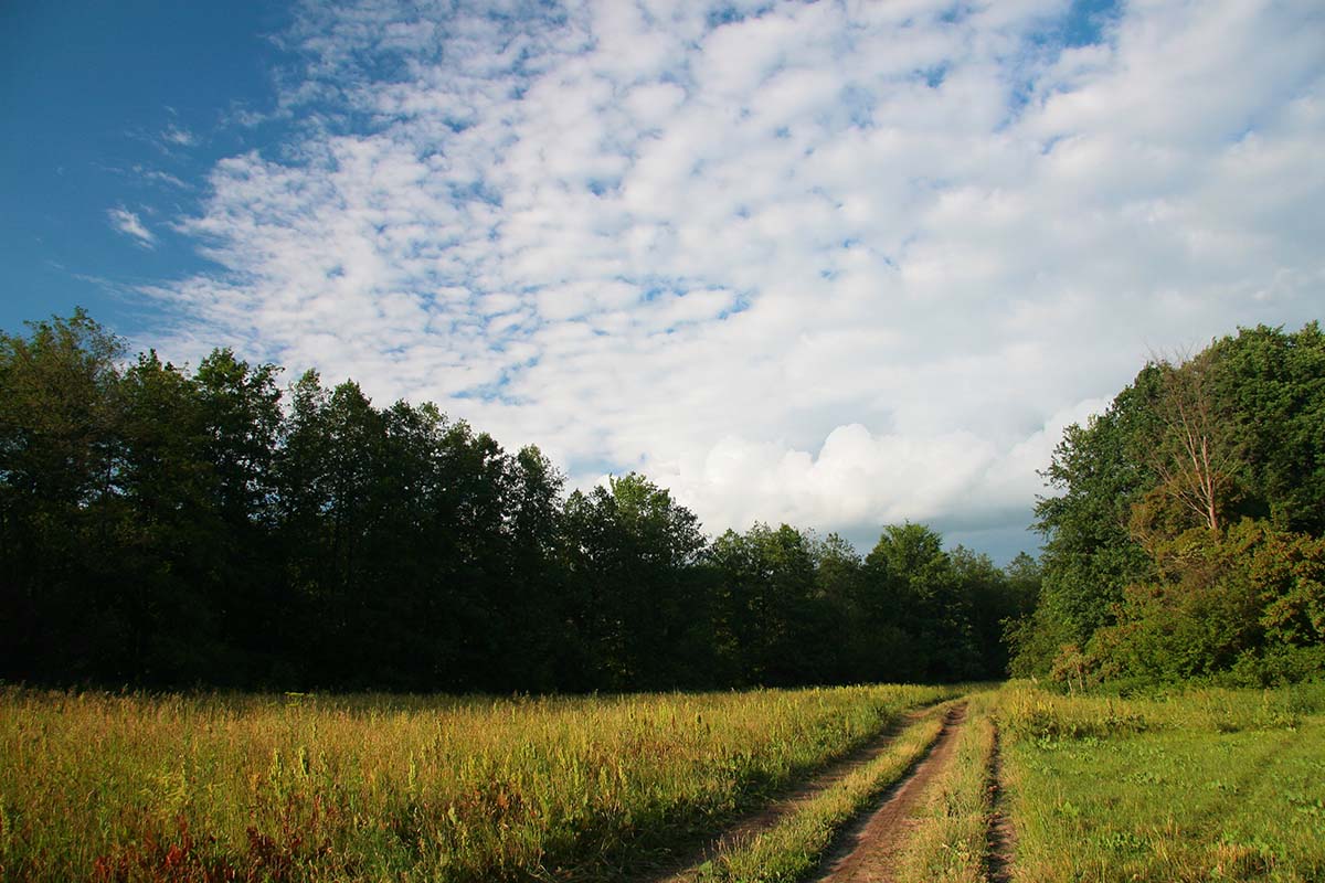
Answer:
<path fill-rule="evenodd" d="M 129 357 L 82 311 L 0 335 L 0 679 L 988 678 L 1007 667 L 1004 622 L 1039 593 L 1032 559 L 1000 569 L 920 524 L 884 528 L 864 557 L 786 524 L 710 539 L 640 475 L 566 494 L 538 449 L 505 451 L 431 404 L 378 408 L 352 381 L 280 375 L 228 349 L 196 368 Z"/>

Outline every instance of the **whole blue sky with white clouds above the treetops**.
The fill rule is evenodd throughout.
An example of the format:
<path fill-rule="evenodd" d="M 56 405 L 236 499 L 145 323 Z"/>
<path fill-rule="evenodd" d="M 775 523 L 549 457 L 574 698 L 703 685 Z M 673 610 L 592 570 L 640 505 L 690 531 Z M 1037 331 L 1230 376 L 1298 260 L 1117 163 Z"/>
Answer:
<path fill-rule="evenodd" d="M 710 534 L 1034 551 L 1064 426 L 1325 304 L 1325 5 L 0 5 L 0 328 L 436 401 Z"/>

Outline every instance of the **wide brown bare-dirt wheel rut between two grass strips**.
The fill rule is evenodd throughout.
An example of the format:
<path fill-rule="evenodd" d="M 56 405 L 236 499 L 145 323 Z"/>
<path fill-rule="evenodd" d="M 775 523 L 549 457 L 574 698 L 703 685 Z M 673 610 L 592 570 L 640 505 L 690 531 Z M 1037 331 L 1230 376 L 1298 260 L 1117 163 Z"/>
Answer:
<path fill-rule="evenodd" d="M 943 729 L 906 778 L 889 789 L 868 818 L 848 830 L 823 863 L 819 883 L 886 883 L 896 876 L 897 858 L 917 822 L 912 810 L 930 781 L 953 761 L 957 732 L 966 721 L 966 704 L 954 706 Z"/>

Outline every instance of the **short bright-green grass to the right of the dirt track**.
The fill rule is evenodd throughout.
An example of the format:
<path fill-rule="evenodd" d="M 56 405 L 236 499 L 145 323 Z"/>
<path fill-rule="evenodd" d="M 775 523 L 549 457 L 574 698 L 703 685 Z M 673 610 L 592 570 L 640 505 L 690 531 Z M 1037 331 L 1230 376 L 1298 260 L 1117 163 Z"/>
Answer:
<path fill-rule="evenodd" d="M 1325 880 L 1322 691 L 1004 691 L 1016 880 Z"/>

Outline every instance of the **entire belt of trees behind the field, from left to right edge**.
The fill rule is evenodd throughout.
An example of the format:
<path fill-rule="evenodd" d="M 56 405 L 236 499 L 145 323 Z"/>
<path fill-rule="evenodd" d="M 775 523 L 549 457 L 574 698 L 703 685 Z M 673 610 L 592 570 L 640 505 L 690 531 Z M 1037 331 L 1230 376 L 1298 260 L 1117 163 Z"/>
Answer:
<path fill-rule="evenodd" d="M 592 691 L 1325 669 L 1325 343 L 1243 330 L 1067 429 L 1039 561 L 890 526 L 708 537 L 629 474 L 566 494 L 432 404 L 82 311 L 0 334 L 0 679 Z"/>

